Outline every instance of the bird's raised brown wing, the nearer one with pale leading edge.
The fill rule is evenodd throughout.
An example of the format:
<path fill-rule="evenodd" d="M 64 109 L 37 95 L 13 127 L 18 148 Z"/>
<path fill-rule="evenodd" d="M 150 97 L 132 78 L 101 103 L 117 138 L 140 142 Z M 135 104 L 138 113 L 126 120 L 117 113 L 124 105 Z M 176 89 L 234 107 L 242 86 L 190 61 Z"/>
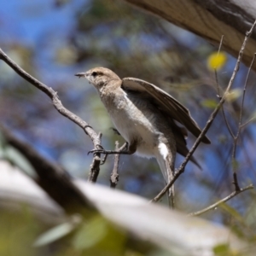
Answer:
<path fill-rule="evenodd" d="M 172 117 L 172 119 L 177 120 L 180 124 L 187 127 L 195 137 L 199 137 L 201 134 L 201 129 L 191 117 L 189 110 L 175 98 L 167 94 L 166 91 L 161 90 L 154 84 L 149 84 L 146 81 L 134 78 L 123 79 L 122 87 L 124 90 L 134 90 L 143 92 L 143 94 L 148 94 L 148 96 L 151 96 L 154 99 L 154 102 L 162 111 Z M 207 144 L 211 143 L 207 136 L 202 138 L 202 142 Z"/>

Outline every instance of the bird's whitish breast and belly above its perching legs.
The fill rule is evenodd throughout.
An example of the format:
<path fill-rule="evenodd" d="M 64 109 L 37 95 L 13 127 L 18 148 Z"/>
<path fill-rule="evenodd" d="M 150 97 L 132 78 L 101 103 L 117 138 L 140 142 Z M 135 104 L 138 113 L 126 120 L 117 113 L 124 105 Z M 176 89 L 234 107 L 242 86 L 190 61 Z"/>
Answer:
<path fill-rule="evenodd" d="M 137 153 L 152 156 L 159 145 L 160 132 L 155 123 L 155 113 L 148 108 L 148 102 L 137 96 L 124 96 L 113 100 L 114 108 L 108 113 L 122 137 L 128 143 L 137 141 Z"/>

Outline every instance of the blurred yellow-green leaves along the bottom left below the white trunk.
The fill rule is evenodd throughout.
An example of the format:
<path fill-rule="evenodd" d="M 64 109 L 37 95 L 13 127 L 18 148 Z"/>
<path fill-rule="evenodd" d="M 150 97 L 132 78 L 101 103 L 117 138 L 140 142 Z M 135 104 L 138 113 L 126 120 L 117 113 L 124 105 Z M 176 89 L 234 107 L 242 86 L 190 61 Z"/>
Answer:
<path fill-rule="evenodd" d="M 161 254 L 164 251 L 147 242 L 139 244 L 136 239 L 128 239 L 123 230 L 101 216 L 87 214 L 83 221 L 81 218 L 78 221 L 78 216 L 72 216 L 67 222 L 49 230 L 54 224 L 38 218 L 26 205 L 19 208 L 19 211 L 6 212 L 1 207 L 0 255 L 165 255 Z"/>

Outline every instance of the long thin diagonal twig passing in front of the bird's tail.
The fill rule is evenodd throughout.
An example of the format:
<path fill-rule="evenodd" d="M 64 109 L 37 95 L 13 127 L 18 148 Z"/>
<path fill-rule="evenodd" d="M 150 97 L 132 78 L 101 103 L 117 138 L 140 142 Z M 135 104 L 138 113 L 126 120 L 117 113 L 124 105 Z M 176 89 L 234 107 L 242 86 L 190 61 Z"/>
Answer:
<path fill-rule="evenodd" d="M 218 102 L 217 107 L 213 110 L 213 112 L 211 113 L 209 119 L 207 120 L 207 125 L 202 129 L 200 136 L 197 137 L 193 147 L 189 150 L 189 153 L 187 154 L 187 156 L 183 160 L 183 163 L 181 164 L 181 166 L 178 167 L 177 172 L 175 173 L 172 181 L 170 183 L 168 183 L 166 185 L 166 187 L 164 189 L 162 189 L 160 191 L 160 193 L 154 197 L 153 200 L 151 200 L 151 202 L 159 201 L 162 198 L 162 196 L 166 194 L 168 189 L 170 189 L 172 187 L 172 184 L 175 183 L 175 181 L 177 180 L 177 177 L 179 177 L 184 172 L 184 168 L 187 165 L 190 156 L 195 152 L 195 149 L 198 147 L 199 143 L 201 143 L 201 139 L 205 136 L 205 134 L 207 133 L 207 131 L 211 127 L 212 122 L 215 119 L 215 117 L 216 117 L 216 115 L 218 113 L 219 108 L 221 108 L 222 105 L 224 104 L 224 101 L 225 101 L 226 97 L 229 94 L 230 88 L 231 88 L 232 84 L 234 83 L 234 80 L 236 78 L 236 73 L 239 70 L 239 66 L 240 66 L 240 62 L 241 62 L 241 57 L 242 57 L 243 51 L 244 51 L 245 46 L 247 44 L 248 38 L 251 36 L 251 34 L 253 32 L 253 28 L 254 28 L 255 25 L 256 25 L 256 20 L 254 21 L 253 26 L 251 27 L 250 31 L 246 33 L 246 37 L 244 38 L 244 41 L 243 41 L 243 43 L 241 45 L 241 49 L 239 51 L 239 54 L 238 54 L 238 57 L 237 57 L 237 61 L 236 61 L 236 66 L 234 68 L 234 72 L 231 75 L 230 82 L 229 82 L 229 84 L 228 84 L 228 86 L 227 86 L 227 88 L 226 88 L 226 90 L 224 92 L 224 96 Z"/>

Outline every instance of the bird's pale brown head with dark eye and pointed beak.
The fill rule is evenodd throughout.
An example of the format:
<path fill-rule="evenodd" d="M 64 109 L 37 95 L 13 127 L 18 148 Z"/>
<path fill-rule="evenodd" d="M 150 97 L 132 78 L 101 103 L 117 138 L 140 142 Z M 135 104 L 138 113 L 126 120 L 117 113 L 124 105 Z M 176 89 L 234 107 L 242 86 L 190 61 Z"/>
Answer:
<path fill-rule="evenodd" d="M 106 67 L 95 67 L 85 73 L 76 73 L 75 76 L 85 78 L 93 84 L 97 90 L 107 85 L 112 80 L 119 80 L 119 76 Z"/>

